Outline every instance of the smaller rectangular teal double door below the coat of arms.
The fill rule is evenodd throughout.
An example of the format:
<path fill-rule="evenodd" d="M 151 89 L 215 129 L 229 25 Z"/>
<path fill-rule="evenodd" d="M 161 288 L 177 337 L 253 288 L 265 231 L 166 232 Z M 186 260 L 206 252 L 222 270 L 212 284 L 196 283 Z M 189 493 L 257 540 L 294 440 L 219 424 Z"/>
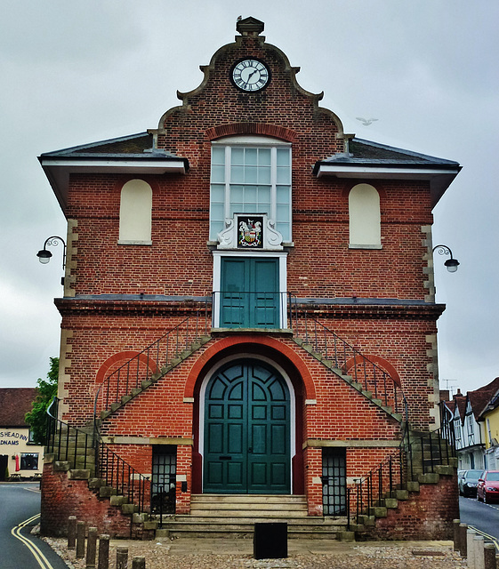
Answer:
<path fill-rule="evenodd" d="M 278 328 L 278 260 L 221 260 L 222 328 Z"/>

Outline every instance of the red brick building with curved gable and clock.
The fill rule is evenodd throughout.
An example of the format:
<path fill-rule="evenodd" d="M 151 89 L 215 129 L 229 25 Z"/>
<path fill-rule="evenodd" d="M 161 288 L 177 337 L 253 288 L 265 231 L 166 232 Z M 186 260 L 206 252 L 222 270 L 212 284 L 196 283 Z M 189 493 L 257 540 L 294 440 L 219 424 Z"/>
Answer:
<path fill-rule="evenodd" d="M 59 418 L 95 409 L 177 514 L 344 514 L 406 421 L 439 427 L 431 210 L 460 166 L 344 132 L 262 30 L 237 22 L 156 129 L 40 157 L 68 219 Z"/>

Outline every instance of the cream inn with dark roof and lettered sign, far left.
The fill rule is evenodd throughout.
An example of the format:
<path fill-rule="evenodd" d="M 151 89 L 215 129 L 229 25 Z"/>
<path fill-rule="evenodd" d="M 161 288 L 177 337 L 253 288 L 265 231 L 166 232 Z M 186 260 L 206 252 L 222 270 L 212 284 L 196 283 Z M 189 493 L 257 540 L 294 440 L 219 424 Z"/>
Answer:
<path fill-rule="evenodd" d="M 33 443 L 24 420 L 36 393 L 36 388 L 0 389 L 0 481 L 42 474 L 44 447 Z"/>

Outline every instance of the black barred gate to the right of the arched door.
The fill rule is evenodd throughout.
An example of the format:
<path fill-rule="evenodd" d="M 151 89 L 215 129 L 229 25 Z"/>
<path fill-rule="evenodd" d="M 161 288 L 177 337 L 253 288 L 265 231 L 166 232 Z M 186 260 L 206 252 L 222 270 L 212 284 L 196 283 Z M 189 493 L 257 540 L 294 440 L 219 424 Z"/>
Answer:
<path fill-rule="evenodd" d="M 324 516 L 347 514 L 347 467 L 344 448 L 322 451 L 322 505 Z"/>

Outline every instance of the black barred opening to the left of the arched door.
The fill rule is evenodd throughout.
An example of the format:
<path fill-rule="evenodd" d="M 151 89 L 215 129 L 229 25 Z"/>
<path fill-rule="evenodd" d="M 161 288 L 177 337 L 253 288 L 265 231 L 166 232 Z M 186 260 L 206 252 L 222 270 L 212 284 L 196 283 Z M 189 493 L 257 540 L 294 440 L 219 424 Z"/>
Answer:
<path fill-rule="evenodd" d="M 152 447 L 152 477 L 150 485 L 151 513 L 174 514 L 177 477 L 177 447 Z"/>

